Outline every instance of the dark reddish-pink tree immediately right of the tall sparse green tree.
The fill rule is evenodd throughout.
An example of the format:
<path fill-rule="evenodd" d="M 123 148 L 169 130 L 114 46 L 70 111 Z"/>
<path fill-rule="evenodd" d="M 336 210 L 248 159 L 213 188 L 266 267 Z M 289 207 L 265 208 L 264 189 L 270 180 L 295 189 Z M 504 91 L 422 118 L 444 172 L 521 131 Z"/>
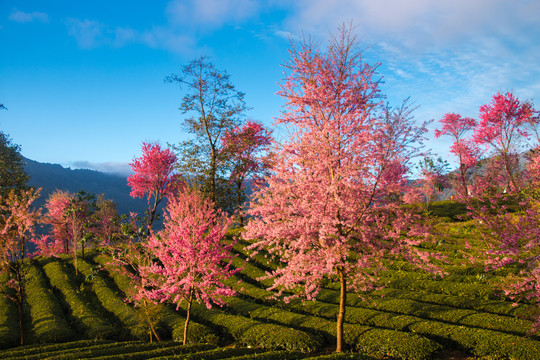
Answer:
<path fill-rule="evenodd" d="M 245 201 L 246 180 L 260 184 L 270 166 L 271 132 L 262 124 L 248 120 L 242 127 L 227 130 L 222 137 L 223 158 L 231 164 L 229 180 L 236 187 L 236 207 L 243 226 L 242 208 Z"/>

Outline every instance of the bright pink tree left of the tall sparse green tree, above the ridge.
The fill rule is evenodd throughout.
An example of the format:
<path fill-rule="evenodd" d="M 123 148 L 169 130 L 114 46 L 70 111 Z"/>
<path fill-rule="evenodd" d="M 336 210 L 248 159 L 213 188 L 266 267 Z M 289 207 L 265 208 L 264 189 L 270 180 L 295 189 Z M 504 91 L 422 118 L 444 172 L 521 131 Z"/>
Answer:
<path fill-rule="evenodd" d="M 174 173 L 175 162 L 176 155 L 169 149 L 161 149 L 159 144 L 143 143 L 142 156 L 130 163 L 134 171 L 127 179 L 131 186 L 130 195 L 139 198 L 146 196 L 148 200 L 146 236 L 152 230 L 158 205 L 180 180 L 180 176 Z"/>

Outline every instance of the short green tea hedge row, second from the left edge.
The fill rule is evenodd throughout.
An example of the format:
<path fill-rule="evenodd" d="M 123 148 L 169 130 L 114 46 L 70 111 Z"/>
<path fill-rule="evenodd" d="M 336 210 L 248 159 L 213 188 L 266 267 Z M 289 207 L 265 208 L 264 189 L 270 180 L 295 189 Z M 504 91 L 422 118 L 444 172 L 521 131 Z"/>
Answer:
<path fill-rule="evenodd" d="M 52 293 L 43 270 L 34 262 L 28 269 L 26 300 L 29 305 L 34 342 L 54 343 L 73 339 L 58 299 Z"/>

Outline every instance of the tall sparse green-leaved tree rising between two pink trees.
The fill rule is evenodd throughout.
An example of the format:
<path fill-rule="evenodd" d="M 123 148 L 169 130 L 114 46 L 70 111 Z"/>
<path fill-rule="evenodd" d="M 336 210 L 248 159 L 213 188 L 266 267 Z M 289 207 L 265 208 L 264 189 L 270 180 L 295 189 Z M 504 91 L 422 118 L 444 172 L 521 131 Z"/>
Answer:
<path fill-rule="evenodd" d="M 180 105 L 186 131 L 194 138 L 184 141 L 175 150 L 180 154 L 183 174 L 201 186 L 202 191 L 220 208 L 227 206 L 227 182 L 222 137 L 239 125 L 248 109 L 244 94 L 234 87 L 230 76 L 216 69 L 207 57 L 200 57 L 182 67 L 180 75 L 172 74 L 165 81 L 185 90 Z"/>

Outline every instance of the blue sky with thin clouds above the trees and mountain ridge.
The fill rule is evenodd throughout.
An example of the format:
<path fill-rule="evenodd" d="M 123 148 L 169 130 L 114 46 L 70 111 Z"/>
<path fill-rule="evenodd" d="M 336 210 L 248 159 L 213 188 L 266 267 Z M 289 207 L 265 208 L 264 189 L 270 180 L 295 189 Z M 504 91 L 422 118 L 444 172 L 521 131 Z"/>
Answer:
<path fill-rule="evenodd" d="M 289 38 L 324 44 L 344 21 L 417 121 L 477 117 L 499 91 L 538 108 L 538 14 L 538 0 L 0 0 L 0 130 L 30 159 L 125 172 L 143 141 L 186 139 L 182 92 L 163 79 L 201 55 L 271 127 Z"/>

